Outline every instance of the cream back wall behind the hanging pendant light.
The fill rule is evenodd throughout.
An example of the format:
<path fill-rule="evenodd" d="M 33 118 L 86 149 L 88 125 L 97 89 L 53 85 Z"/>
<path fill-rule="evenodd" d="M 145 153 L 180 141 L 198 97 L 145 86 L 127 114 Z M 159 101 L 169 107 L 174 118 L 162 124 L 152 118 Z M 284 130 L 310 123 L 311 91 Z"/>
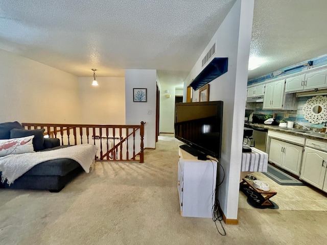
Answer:
<path fill-rule="evenodd" d="M 80 77 L 79 94 L 83 124 L 125 125 L 125 78 Z"/>

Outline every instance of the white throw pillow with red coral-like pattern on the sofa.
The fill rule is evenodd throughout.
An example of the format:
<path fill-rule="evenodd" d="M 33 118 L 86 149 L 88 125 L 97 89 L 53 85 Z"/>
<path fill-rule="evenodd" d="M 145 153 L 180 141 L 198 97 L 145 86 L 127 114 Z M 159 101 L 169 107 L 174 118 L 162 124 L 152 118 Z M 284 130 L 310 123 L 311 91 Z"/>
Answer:
<path fill-rule="evenodd" d="M 0 157 L 10 154 L 34 152 L 33 138 L 34 135 L 16 139 L 0 139 Z"/>

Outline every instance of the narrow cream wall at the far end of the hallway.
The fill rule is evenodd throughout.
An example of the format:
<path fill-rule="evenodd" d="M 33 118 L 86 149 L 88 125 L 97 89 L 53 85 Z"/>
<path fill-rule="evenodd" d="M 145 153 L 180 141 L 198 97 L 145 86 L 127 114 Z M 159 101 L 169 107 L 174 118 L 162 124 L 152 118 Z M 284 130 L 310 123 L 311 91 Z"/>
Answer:
<path fill-rule="evenodd" d="M 167 93 L 166 90 L 169 90 Z M 166 95 L 170 94 L 170 98 Z M 174 133 L 174 116 L 175 116 L 175 86 L 161 84 L 160 90 L 160 114 L 159 114 L 159 132 Z"/>

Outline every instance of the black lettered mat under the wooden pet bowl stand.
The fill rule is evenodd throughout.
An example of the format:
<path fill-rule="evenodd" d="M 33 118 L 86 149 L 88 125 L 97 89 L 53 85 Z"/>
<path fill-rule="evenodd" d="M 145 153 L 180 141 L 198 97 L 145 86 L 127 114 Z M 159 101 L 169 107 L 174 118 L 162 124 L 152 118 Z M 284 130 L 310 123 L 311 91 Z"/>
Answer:
<path fill-rule="evenodd" d="M 279 209 L 278 205 L 274 203 L 273 201 L 269 200 L 272 205 L 264 205 L 261 206 L 261 204 L 265 201 L 264 197 L 253 190 L 250 186 L 240 184 L 240 190 L 246 195 L 247 197 L 247 203 L 252 206 L 253 208 L 260 208 L 260 209 L 265 209 L 265 208 L 270 208 L 270 209 Z"/>

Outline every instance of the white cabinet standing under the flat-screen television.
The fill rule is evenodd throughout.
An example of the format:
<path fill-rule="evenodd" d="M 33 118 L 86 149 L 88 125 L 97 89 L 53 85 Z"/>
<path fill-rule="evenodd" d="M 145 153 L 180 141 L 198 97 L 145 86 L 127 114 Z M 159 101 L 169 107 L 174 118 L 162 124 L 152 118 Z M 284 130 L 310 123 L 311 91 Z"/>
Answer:
<path fill-rule="evenodd" d="M 212 217 L 217 162 L 201 161 L 179 148 L 177 189 L 181 216 Z"/>

